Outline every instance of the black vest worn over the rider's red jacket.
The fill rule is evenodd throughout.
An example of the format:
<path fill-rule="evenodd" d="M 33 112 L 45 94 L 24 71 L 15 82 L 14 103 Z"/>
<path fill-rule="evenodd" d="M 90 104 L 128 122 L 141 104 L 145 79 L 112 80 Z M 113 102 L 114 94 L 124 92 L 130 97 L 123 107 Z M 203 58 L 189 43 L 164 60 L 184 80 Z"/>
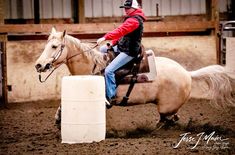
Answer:
<path fill-rule="evenodd" d="M 135 15 L 131 17 L 126 17 L 124 19 L 127 20 L 128 18 L 136 18 L 139 22 L 139 27 L 135 29 L 133 32 L 128 33 L 127 35 L 123 36 L 119 41 L 118 41 L 118 49 L 121 52 L 126 53 L 129 56 L 132 57 L 137 57 L 140 48 L 141 48 L 141 39 L 143 35 L 143 19 L 142 17 Z"/>

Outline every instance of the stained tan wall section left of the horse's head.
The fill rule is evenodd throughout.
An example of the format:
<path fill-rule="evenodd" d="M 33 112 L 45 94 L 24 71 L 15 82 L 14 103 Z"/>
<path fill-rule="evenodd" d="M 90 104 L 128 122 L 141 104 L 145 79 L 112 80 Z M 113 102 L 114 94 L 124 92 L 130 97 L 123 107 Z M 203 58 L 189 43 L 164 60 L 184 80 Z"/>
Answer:
<path fill-rule="evenodd" d="M 68 75 L 65 65 L 57 69 L 45 83 L 40 83 L 34 67 L 46 41 L 7 42 L 7 84 L 9 102 L 35 101 L 60 98 L 60 82 Z M 45 78 L 47 74 L 42 74 Z"/>

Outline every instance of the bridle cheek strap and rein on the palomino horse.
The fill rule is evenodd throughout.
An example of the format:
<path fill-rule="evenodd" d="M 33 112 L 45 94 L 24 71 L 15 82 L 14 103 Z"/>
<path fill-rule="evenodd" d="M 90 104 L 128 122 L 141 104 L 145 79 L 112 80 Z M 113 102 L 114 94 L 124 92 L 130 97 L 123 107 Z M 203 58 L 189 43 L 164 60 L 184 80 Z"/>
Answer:
<path fill-rule="evenodd" d="M 62 64 L 65 64 L 68 60 L 72 59 L 73 57 L 76 57 L 84 52 L 88 52 L 88 51 L 91 51 L 93 50 L 94 48 L 96 48 L 98 46 L 98 44 L 95 44 L 93 47 L 83 51 L 83 52 L 80 52 L 80 53 L 77 53 L 77 54 L 74 54 L 72 56 L 70 56 L 69 58 L 67 58 L 66 60 L 62 61 L 61 63 L 58 64 L 57 67 L 55 67 L 47 76 L 44 80 L 42 80 L 42 76 L 41 76 L 41 73 L 39 73 L 38 75 L 38 79 L 41 83 L 43 82 L 46 82 L 46 80 L 52 75 L 52 73 L 57 69 L 59 68 Z M 61 56 L 63 50 L 64 50 L 64 47 L 65 47 L 65 44 L 61 44 L 61 48 L 60 48 L 60 51 L 58 53 L 55 54 L 55 56 L 53 56 L 53 60 L 52 60 L 52 63 L 55 62 L 56 60 L 59 59 L 59 57 Z"/>

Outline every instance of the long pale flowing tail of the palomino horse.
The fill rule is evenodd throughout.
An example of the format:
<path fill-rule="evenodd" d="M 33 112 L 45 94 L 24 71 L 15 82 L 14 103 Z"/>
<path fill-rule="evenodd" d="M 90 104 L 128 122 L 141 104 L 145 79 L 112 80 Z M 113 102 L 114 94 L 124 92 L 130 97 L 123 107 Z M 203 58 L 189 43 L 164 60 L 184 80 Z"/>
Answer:
<path fill-rule="evenodd" d="M 208 85 L 206 91 L 215 107 L 235 106 L 232 84 L 225 68 L 212 65 L 190 72 L 192 79 L 204 80 Z"/>

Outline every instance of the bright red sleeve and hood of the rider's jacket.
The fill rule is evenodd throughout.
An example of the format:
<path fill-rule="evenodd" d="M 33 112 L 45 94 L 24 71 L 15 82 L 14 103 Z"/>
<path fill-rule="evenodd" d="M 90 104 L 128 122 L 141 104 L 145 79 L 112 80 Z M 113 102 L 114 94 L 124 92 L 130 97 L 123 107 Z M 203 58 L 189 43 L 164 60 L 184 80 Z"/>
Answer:
<path fill-rule="evenodd" d="M 146 17 L 142 11 L 142 9 L 136 9 L 134 12 L 129 14 L 128 16 L 135 16 L 139 15 L 143 18 L 143 20 L 146 20 Z M 107 33 L 104 35 L 104 38 L 106 40 L 112 40 L 111 44 L 116 45 L 117 41 L 125 36 L 126 34 L 134 31 L 139 27 L 139 21 L 136 18 L 128 18 L 125 20 L 118 28 L 114 29 L 113 31 Z"/>

